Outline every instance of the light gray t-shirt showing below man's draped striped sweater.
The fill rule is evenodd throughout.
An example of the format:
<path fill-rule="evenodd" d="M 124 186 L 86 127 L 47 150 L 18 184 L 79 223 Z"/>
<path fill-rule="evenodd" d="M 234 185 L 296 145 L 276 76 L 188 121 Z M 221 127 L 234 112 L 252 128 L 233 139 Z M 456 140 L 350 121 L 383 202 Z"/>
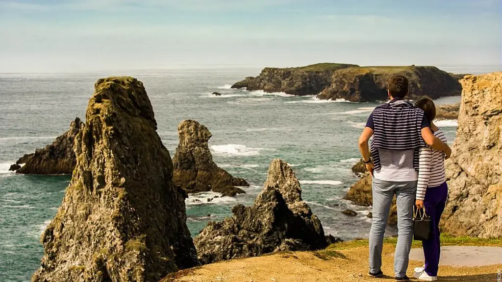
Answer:
<path fill-rule="evenodd" d="M 374 171 L 374 177 L 383 181 L 417 181 L 418 172 L 413 168 L 414 151 L 379 149 L 382 168 Z"/>

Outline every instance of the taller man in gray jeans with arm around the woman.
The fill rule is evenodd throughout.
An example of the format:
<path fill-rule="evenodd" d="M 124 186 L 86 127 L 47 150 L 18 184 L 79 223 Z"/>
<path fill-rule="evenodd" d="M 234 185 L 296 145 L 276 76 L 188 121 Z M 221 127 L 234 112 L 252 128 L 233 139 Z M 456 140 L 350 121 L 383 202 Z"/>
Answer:
<path fill-rule="evenodd" d="M 418 149 L 425 144 L 442 151 L 446 158 L 451 149 L 432 133 L 422 109 L 404 98 L 408 79 L 395 76 L 388 80 L 391 101 L 376 107 L 369 115 L 359 137 L 366 169 L 373 177 L 373 219 L 369 233 L 369 275 L 382 277 L 382 245 L 392 198 L 398 207 L 398 243 L 394 257 L 397 281 L 409 281 L 406 275 L 413 241 L 413 206 L 418 181 Z M 371 141 L 371 153 L 368 140 Z"/>

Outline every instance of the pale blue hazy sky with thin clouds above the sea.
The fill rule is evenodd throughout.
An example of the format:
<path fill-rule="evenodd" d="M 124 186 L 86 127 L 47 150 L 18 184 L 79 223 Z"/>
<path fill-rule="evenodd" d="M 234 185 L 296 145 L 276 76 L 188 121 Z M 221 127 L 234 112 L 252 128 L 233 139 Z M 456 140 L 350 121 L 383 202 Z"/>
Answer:
<path fill-rule="evenodd" d="M 0 0 L 0 72 L 501 64 L 501 0 Z"/>

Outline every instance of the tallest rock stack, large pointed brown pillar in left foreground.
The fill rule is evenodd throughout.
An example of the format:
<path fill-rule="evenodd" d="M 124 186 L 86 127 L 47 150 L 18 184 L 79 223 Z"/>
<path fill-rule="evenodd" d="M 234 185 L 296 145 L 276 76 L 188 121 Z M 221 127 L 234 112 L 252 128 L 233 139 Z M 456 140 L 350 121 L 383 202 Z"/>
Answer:
<path fill-rule="evenodd" d="M 143 84 L 109 77 L 94 87 L 73 177 L 42 234 L 32 281 L 157 281 L 198 265 L 185 194 L 172 182 Z"/>

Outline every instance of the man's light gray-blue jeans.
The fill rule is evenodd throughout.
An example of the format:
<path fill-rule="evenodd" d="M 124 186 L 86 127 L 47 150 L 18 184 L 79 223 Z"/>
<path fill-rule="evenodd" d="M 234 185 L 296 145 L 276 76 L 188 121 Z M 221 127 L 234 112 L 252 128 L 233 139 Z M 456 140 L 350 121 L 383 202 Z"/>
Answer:
<path fill-rule="evenodd" d="M 408 269 L 408 256 L 413 241 L 413 206 L 417 181 L 390 182 L 373 178 L 373 221 L 369 232 L 369 271 L 376 273 L 382 267 L 382 246 L 389 218 L 392 198 L 396 194 L 398 206 L 398 244 L 394 256 L 396 277 L 404 277 Z"/>

